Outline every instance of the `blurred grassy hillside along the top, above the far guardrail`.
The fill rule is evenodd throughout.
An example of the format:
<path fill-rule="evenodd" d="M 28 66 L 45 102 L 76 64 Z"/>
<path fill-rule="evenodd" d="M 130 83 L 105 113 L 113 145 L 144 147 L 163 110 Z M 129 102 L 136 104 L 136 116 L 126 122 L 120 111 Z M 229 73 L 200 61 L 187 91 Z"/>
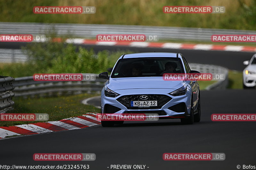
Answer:
<path fill-rule="evenodd" d="M 223 14 L 165 14 L 163 6 L 225 6 Z M 95 14 L 34 14 L 34 6 L 95 6 Z M 0 0 L 0 21 L 256 30 L 254 0 Z"/>

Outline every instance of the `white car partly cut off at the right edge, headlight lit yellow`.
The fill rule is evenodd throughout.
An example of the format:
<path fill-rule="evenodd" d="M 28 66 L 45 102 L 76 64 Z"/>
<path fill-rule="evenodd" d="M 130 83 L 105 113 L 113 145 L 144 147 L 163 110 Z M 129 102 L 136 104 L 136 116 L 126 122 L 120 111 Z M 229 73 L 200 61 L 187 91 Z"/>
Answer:
<path fill-rule="evenodd" d="M 247 65 L 243 70 L 243 86 L 246 88 L 255 88 L 256 86 L 256 54 L 252 56 L 252 59 L 243 62 Z"/>

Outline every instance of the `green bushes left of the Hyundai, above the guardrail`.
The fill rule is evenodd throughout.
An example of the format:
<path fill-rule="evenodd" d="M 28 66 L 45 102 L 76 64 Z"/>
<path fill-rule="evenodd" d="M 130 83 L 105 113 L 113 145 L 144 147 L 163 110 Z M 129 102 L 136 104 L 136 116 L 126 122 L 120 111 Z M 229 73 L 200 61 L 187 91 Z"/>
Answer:
<path fill-rule="evenodd" d="M 51 40 L 51 39 L 50 39 Z M 113 67 L 116 60 L 130 51 L 95 53 L 93 49 L 64 42 L 30 43 L 23 48 L 27 63 L 2 63 L 0 75 L 23 77 L 35 73 L 100 73 Z"/>

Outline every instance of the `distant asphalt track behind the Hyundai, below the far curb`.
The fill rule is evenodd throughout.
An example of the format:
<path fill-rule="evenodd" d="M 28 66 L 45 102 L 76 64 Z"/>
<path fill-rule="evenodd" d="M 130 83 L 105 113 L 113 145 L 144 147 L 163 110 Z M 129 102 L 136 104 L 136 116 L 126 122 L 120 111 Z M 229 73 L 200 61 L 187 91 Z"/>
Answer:
<path fill-rule="evenodd" d="M 1 42 L 0 48 L 19 49 L 25 46 L 24 42 Z M 179 52 L 185 56 L 188 63 L 215 64 L 227 67 L 230 70 L 242 71 L 245 66 L 244 60 L 250 60 L 253 52 L 234 52 L 234 51 L 205 51 L 190 49 L 164 49 L 164 48 L 139 48 L 124 46 L 98 46 L 98 45 L 79 45 L 84 48 L 93 48 L 96 52 L 104 49 L 110 51 L 130 50 L 132 52 Z"/>

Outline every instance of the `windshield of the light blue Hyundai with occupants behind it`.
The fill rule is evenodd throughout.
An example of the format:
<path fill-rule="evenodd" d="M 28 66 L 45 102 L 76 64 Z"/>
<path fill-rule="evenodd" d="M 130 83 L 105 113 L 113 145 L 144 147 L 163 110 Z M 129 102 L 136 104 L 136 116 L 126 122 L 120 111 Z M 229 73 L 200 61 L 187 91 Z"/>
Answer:
<path fill-rule="evenodd" d="M 140 57 L 120 59 L 111 78 L 159 77 L 164 73 L 184 73 L 180 58 L 177 57 Z"/>

